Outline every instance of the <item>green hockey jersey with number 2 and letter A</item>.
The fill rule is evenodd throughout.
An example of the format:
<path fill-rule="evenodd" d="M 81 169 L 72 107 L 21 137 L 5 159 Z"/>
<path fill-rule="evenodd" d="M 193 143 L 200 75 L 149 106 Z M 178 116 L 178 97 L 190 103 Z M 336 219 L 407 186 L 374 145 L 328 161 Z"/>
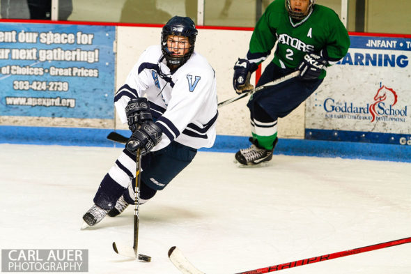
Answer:
<path fill-rule="evenodd" d="M 350 47 L 348 32 L 334 10 L 315 4 L 304 20 L 297 21 L 288 16 L 285 0 L 273 1 L 258 20 L 247 59 L 261 63 L 277 41 L 272 61 L 281 68 L 297 68 L 307 52 L 323 56 L 331 65 L 346 56 Z"/>

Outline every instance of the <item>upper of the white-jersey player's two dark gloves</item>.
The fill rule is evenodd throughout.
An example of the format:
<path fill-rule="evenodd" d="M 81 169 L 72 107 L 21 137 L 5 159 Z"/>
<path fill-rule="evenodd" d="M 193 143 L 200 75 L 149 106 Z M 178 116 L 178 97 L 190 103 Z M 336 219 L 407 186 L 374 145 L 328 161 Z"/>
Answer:
<path fill-rule="evenodd" d="M 125 114 L 127 115 L 128 128 L 132 132 L 136 131 L 139 125 L 146 121 L 153 121 L 153 116 L 150 113 L 150 103 L 144 97 L 132 98 L 125 107 Z"/>

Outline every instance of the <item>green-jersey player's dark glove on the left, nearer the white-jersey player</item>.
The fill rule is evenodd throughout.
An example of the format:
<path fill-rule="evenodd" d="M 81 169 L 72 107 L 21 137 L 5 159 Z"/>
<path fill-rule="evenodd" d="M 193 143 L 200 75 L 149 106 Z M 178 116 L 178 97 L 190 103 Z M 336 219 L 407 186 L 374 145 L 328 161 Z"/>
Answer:
<path fill-rule="evenodd" d="M 233 87 L 236 93 L 241 94 L 254 89 L 254 86 L 250 84 L 250 77 L 257 68 L 256 63 L 250 63 L 247 59 L 238 59 L 235 62 Z"/>

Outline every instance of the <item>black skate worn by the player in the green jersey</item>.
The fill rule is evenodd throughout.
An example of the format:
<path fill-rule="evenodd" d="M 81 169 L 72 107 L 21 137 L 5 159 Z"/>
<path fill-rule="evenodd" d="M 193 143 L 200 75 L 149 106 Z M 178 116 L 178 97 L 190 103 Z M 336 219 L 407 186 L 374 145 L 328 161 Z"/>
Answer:
<path fill-rule="evenodd" d="M 235 153 L 235 160 L 237 160 L 241 165 L 258 165 L 261 162 L 267 162 L 272 159 L 272 151 L 278 142 L 278 138 L 274 141 L 274 146 L 271 150 L 263 149 L 258 146 L 258 141 L 253 140 L 252 137 L 249 138 L 251 146 L 248 149 L 240 149 Z"/>

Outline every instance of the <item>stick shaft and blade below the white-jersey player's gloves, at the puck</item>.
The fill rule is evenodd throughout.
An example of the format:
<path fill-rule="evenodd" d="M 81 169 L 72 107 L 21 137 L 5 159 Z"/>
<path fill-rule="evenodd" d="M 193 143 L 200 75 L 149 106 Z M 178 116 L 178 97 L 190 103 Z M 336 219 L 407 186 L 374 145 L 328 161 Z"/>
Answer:
<path fill-rule="evenodd" d="M 137 149 L 137 161 L 136 161 L 136 185 L 134 186 L 134 238 L 133 247 L 119 246 L 116 242 L 113 242 L 113 249 L 117 254 L 121 254 L 125 257 L 139 259 L 141 261 L 151 261 L 151 257 L 137 253 L 137 247 L 139 245 L 139 206 L 140 206 L 140 181 L 141 181 L 141 149 Z"/>

